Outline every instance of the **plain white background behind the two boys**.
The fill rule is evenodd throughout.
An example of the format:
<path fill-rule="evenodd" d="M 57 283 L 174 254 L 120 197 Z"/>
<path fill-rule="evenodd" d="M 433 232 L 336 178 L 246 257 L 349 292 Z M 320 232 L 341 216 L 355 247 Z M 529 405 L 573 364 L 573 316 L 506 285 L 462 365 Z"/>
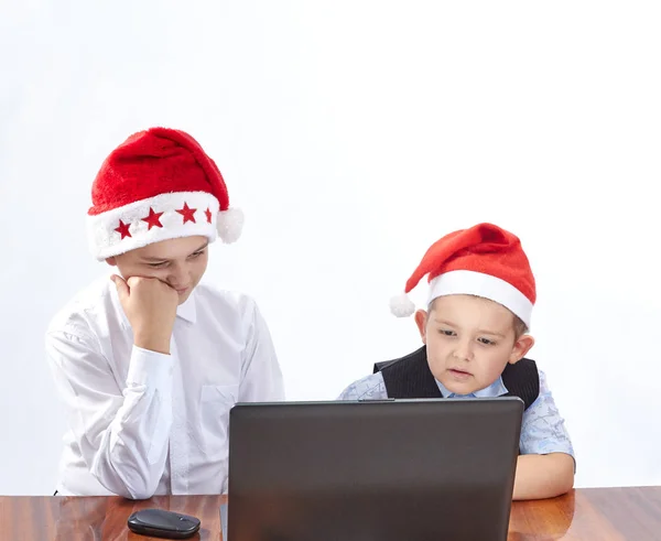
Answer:
<path fill-rule="evenodd" d="M 290 399 L 418 347 L 389 297 L 494 221 L 537 274 L 530 356 L 577 486 L 661 484 L 658 2 L 0 6 L 0 494 L 54 489 L 43 334 L 106 272 L 84 232 L 101 161 L 154 125 L 194 134 L 247 214 L 206 278 L 258 300 Z"/>

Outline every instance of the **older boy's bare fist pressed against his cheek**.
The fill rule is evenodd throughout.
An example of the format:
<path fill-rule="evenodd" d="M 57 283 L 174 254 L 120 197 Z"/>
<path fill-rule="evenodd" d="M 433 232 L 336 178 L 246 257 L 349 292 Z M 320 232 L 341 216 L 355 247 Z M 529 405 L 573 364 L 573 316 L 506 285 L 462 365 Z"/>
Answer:
<path fill-rule="evenodd" d="M 112 275 L 117 294 L 133 328 L 133 344 L 143 349 L 170 354 L 170 338 L 176 317 L 178 295 L 155 278 Z"/>

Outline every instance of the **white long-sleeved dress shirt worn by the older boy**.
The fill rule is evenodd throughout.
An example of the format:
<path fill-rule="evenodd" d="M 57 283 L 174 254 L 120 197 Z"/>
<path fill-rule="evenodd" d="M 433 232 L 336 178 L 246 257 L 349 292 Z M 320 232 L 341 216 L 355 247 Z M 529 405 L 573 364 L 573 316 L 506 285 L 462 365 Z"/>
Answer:
<path fill-rule="evenodd" d="M 230 408 L 284 400 L 254 301 L 205 284 L 178 306 L 170 355 L 133 345 L 109 278 L 53 318 L 46 354 L 69 426 L 62 495 L 225 493 Z"/>

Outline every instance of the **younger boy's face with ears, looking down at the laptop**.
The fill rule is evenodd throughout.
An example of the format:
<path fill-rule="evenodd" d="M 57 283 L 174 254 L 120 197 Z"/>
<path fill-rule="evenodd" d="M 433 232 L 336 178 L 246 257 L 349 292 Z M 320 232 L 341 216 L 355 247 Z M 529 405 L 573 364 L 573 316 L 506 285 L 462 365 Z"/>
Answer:
<path fill-rule="evenodd" d="M 418 311 L 415 322 L 432 374 L 457 394 L 489 387 L 534 344 L 530 335 L 517 338 L 508 309 L 478 296 L 441 296 L 429 314 Z"/>

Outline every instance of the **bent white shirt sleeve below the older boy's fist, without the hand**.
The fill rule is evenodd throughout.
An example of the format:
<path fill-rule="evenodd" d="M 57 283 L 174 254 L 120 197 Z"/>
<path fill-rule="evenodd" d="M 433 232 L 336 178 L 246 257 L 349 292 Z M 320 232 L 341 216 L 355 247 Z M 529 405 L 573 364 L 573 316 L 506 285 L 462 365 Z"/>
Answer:
<path fill-rule="evenodd" d="M 153 496 L 172 424 L 172 358 L 134 346 L 122 393 L 95 338 L 82 329 L 48 333 L 46 355 L 90 473 L 119 496 Z"/>

